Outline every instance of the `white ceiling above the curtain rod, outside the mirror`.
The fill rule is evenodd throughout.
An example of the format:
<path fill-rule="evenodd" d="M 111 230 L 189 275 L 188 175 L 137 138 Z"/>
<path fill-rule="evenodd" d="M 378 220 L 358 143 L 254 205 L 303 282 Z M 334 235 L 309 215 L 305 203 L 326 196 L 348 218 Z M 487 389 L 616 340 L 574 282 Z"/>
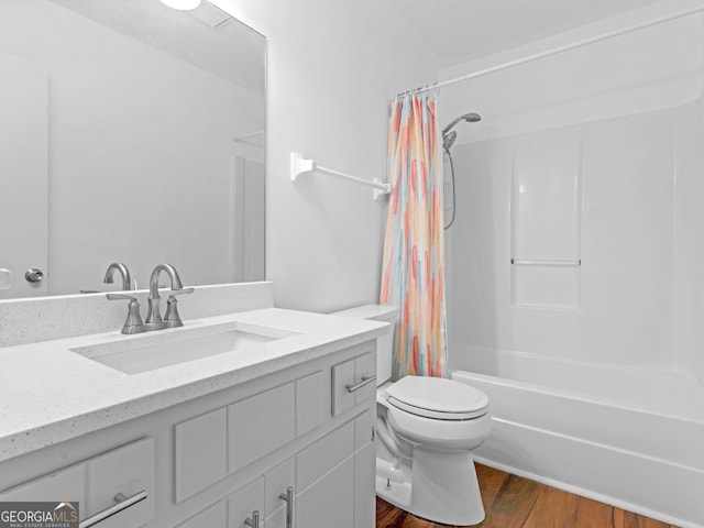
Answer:
<path fill-rule="evenodd" d="M 448 67 L 547 37 L 658 0 L 382 0 Z"/>

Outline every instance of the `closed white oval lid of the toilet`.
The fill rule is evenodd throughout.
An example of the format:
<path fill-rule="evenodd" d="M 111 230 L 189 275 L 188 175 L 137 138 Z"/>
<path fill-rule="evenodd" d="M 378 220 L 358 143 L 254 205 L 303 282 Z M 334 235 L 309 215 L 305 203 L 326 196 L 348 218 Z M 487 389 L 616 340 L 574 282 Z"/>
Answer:
<path fill-rule="evenodd" d="M 488 407 L 488 398 L 481 391 L 442 377 L 406 376 L 386 393 L 394 407 L 440 420 L 477 418 Z"/>

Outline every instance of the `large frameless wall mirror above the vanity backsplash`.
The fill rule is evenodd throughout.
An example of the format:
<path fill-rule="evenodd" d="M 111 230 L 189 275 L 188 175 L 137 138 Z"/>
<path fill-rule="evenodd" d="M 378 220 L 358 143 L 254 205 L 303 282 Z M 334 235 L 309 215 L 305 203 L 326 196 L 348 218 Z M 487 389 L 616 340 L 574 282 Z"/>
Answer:
<path fill-rule="evenodd" d="M 265 45 L 206 0 L 0 1 L 0 299 L 263 279 Z"/>

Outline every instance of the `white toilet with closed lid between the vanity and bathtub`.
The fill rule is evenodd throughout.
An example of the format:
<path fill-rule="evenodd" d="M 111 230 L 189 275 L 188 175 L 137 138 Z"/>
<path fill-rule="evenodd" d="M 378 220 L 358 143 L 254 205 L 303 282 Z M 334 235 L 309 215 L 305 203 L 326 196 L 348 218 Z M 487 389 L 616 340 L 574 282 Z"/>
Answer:
<path fill-rule="evenodd" d="M 398 309 L 365 305 L 332 315 L 394 324 Z M 487 396 L 439 377 L 393 383 L 392 354 L 389 333 L 376 350 L 376 494 L 433 522 L 481 522 L 484 506 L 472 450 L 492 428 Z"/>

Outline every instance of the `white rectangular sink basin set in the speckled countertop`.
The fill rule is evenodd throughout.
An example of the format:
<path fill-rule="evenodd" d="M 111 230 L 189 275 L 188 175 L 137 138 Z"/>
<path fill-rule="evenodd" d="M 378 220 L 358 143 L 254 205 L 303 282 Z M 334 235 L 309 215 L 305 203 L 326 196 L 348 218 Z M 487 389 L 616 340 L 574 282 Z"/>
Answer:
<path fill-rule="evenodd" d="M 160 334 L 140 334 L 118 342 L 70 349 L 89 360 L 123 372 L 139 374 L 211 355 L 255 354 L 263 343 L 294 336 L 294 332 L 271 328 L 197 328 Z"/>

